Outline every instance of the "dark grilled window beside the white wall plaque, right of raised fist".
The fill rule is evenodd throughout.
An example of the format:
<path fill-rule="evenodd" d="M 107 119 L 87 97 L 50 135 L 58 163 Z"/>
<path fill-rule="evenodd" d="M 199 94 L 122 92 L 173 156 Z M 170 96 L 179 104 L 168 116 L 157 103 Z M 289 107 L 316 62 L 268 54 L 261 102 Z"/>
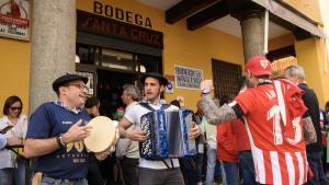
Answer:
<path fill-rule="evenodd" d="M 241 66 L 220 60 L 212 60 L 215 97 L 236 96 L 239 92 L 238 81 L 241 78 Z"/>

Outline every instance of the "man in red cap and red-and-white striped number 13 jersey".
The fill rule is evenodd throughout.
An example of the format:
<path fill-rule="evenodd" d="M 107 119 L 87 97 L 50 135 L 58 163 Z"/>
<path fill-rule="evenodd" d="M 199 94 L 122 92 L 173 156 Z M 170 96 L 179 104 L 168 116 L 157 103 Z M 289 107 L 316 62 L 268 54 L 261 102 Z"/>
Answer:
<path fill-rule="evenodd" d="M 203 81 L 203 109 L 211 124 L 243 119 L 258 183 L 304 184 L 309 169 L 305 142 L 315 142 L 316 132 L 305 114 L 303 91 L 285 80 L 272 81 L 271 70 L 266 58 L 251 58 L 246 65 L 246 77 L 253 88 L 220 107 L 211 100 L 212 81 Z"/>

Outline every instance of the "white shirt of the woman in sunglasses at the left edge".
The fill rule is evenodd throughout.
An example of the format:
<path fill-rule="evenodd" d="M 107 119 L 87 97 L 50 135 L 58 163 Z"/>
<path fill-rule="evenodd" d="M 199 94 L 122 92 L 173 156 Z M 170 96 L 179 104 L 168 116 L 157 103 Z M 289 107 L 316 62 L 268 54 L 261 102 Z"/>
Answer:
<path fill-rule="evenodd" d="M 3 116 L 0 118 L 0 129 L 5 128 L 9 125 L 13 125 L 8 116 Z M 11 138 L 13 136 L 20 137 L 20 138 L 25 138 L 26 136 L 26 130 L 27 130 L 27 118 L 25 115 L 21 114 L 19 117 L 18 124 L 7 131 L 4 137 Z M 16 155 L 8 150 L 8 149 L 1 149 L 0 150 L 0 169 L 4 167 L 15 167 L 15 159 Z"/>

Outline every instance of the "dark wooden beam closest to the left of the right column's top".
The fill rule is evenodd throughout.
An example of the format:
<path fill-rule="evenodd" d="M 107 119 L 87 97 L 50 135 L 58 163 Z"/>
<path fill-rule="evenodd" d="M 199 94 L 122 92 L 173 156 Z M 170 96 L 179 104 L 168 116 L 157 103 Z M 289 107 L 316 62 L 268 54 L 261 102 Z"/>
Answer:
<path fill-rule="evenodd" d="M 213 21 L 229 14 L 229 8 L 225 1 L 219 1 L 212 7 L 194 14 L 186 20 L 188 30 L 195 31 Z"/>

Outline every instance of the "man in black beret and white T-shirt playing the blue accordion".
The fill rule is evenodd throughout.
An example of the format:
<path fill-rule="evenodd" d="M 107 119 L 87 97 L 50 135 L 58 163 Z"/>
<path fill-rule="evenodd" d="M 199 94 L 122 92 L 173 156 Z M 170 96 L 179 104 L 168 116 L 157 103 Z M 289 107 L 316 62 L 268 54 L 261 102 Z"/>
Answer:
<path fill-rule="evenodd" d="M 160 94 L 164 91 L 168 80 L 159 73 L 150 72 L 140 78 L 144 84 L 146 105 L 151 109 L 162 109 L 163 104 L 160 103 Z M 167 105 L 167 104 L 166 104 Z M 122 137 L 145 141 L 146 135 L 141 130 L 126 130 L 132 125 L 140 126 L 140 118 L 143 115 L 151 112 L 150 108 L 143 106 L 141 103 L 131 107 L 124 115 L 120 123 L 120 132 Z M 179 108 L 173 105 L 167 105 L 166 112 L 178 111 Z M 178 125 L 179 127 L 179 125 Z M 200 128 L 194 125 L 189 130 L 189 136 L 196 138 L 200 135 Z M 179 169 L 178 159 L 163 159 L 163 160 L 148 160 L 145 158 L 139 159 L 139 183 L 140 185 L 182 185 L 184 184 L 182 173 Z"/>

